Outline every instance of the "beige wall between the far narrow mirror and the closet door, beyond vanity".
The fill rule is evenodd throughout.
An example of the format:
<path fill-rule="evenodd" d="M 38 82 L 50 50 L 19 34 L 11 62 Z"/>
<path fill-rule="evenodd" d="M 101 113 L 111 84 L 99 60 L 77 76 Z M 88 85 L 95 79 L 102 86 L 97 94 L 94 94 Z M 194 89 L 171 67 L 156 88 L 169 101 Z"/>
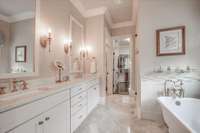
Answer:
<path fill-rule="evenodd" d="M 104 15 L 86 20 L 86 45 L 91 48 L 90 55 L 97 58 L 97 74 L 101 82 L 101 96 L 105 96 L 104 68 Z"/>

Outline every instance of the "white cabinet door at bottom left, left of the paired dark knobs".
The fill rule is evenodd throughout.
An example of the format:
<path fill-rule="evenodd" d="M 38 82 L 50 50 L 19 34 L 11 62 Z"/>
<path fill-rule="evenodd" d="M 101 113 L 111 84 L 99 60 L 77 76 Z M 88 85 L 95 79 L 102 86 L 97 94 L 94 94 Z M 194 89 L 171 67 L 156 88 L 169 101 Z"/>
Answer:
<path fill-rule="evenodd" d="M 8 133 L 43 133 L 44 122 L 40 118 L 32 119 Z"/>

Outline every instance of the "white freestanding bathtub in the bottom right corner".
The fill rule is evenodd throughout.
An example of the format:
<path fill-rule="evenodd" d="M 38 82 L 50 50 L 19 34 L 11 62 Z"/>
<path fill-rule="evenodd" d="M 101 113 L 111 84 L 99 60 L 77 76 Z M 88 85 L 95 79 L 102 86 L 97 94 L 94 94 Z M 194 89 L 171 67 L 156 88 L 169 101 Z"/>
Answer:
<path fill-rule="evenodd" d="M 169 133 L 200 133 L 200 100 L 159 97 Z"/>

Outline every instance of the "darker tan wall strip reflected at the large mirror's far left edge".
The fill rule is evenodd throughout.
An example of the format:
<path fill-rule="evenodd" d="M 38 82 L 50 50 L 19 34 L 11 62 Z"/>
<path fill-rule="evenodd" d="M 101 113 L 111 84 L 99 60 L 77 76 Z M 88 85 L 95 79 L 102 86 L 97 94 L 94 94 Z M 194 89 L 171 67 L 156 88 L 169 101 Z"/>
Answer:
<path fill-rule="evenodd" d="M 0 32 L 5 37 L 5 45 L 0 48 L 0 73 L 10 71 L 10 25 L 8 22 L 0 20 Z"/>

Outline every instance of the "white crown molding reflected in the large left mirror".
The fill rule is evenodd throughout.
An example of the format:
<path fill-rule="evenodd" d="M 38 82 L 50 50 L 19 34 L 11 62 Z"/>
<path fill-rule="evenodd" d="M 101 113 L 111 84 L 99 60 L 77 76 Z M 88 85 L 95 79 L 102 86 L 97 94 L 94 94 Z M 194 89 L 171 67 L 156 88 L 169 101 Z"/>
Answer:
<path fill-rule="evenodd" d="M 20 13 L 20 14 L 10 16 L 10 17 L 7 17 L 7 16 L 0 14 L 0 20 L 3 20 L 3 21 L 8 22 L 8 23 L 13 23 L 13 22 L 17 22 L 17 21 L 26 20 L 26 19 L 31 19 L 31 18 L 34 18 L 34 17 L 35 17 L 34 12 L 24 12 L 24 13 Z"/>

